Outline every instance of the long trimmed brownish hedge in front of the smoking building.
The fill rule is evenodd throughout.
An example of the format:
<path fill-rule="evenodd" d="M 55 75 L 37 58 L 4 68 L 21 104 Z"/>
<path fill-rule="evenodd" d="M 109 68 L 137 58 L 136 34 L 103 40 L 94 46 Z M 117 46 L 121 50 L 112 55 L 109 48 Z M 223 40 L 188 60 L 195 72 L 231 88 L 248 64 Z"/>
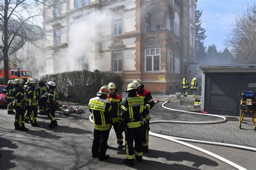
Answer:
<path fill-rule="evenodd" d="M 42 78 L 46 82 L 54 81 L 57 84 L 57 100 L 82 104 L 88 104 L 90 98 L 96 97 L 99 88 L 110 82 L 115 83 L 118 93 L 122 94 L 122 86 L 124 84 L 122 74 L 99 70 L 46 74 Z"/>

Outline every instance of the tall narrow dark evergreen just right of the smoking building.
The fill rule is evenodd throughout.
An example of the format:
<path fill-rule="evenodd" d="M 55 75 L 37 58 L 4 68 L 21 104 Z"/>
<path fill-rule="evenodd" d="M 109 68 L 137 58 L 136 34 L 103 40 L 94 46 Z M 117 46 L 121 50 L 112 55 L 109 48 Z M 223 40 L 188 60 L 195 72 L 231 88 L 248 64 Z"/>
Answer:
<path fill-rule="evenodd" d="M 197 61 L 201 64 L 205 62 L 205 45 L 204 40 L 207 37 L 205 35 L 206 30 L 202 28 L 201 24 L 201 15 L 203 13 L 203 10 L 196 10 L 196 58 Z"/>

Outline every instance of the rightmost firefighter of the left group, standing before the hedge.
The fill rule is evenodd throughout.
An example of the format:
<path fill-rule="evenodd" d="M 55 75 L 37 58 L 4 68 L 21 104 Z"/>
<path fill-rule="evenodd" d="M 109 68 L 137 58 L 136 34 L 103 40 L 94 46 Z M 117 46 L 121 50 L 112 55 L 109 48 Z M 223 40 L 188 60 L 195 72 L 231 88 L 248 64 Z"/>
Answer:
<path fill-rule="evenodd" d="M 54 83 L 53 81 L 48 81 L 47 82 L 48 85 L 48 92 L 47 94 L 47 116 L 48 118 L 51 120 L 51 124 L 48 125 L 50 128 L 54 128 L 56 126 L 58 126 L 57 124 L 57 120 L 55 117 L 55 111 L 57 110 L 57 106 L 56 106 L 56 100 L 57 100 L 57 86 L 56 83 Z"/>

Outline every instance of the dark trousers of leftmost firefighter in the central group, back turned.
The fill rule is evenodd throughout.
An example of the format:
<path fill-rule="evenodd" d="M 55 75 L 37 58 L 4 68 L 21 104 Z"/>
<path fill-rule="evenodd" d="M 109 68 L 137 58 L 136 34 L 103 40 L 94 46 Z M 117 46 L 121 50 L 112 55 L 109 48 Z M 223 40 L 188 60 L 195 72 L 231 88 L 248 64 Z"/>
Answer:
<path fill-rule="evenodd" d="M 109 132 L 110 130 L 94 130 L 92 142 L 92 157 L 99 156 L 99 159 L 104 159 L 107 150 L 107 139 L 109 139 Z"/>

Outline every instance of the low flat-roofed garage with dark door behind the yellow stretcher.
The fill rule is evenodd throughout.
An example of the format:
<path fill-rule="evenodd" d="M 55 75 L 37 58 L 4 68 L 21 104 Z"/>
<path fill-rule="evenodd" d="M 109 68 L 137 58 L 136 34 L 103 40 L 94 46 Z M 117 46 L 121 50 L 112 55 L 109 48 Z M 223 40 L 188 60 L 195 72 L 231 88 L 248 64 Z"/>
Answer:
<path fill-rule="evenodd" d="M 256 92 L 256 65 L 200 66 L 200 69 L 202 111 L 239 115 L 241 92 Z"/>

